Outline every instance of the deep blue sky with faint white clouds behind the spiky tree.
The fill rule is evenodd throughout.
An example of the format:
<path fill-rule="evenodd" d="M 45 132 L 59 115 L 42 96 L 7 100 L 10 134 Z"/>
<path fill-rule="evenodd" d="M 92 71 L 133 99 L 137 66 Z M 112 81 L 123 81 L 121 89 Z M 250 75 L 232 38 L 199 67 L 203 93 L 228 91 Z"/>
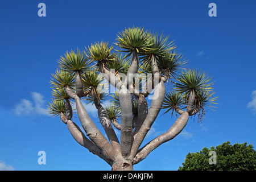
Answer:
<path fill-rule="evenodd" d="M 40 2 L 46 17 L 38 16 Z M 211 2 L 216 17 L 208 15 Z M 170 35 L 189 60 L 187 68 L 208 72 L 220 97 L 217 111 L 208 110 L 203 123 L 190 118 L 180 135 L 135 170 L 177 170 L 188 152 L 227 140 L 255 147 L 255 7 L 252 0 L 0 1 L 0 170 L 111 169 L 76 143 L 59 118 L 49 118 L 49 78 L 65 51 L 115 42 L 119 31 L 133 26 Z M 88 112 L 98 125 L 93 107 Z M 175 122 L 162 113 L 144 143 Z M 39 151 L 46 152 L 46 165 L 38 164 Z"/>

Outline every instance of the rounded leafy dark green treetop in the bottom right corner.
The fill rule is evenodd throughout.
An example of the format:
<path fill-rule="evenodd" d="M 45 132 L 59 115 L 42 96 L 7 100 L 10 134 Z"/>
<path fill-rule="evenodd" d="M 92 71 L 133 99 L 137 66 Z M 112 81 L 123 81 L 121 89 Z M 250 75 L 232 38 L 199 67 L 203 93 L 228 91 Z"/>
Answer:
<path fill-rule="evenodd" d="M 256 151 L 247 143 L 234 145 L 224 142 L 214 147 L 204 147 L 196 153 L 188 153 L 178 171 L 255 171 Z M 216 164 L 210 162 L 210 151 L 216 152 Z"/>

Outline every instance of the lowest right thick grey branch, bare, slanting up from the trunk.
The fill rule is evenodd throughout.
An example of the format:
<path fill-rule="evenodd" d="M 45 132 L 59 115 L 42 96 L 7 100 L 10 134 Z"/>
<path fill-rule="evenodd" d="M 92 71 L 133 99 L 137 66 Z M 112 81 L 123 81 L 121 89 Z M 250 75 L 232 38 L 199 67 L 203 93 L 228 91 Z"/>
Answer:
<path fill-rule="evenodd" d="M 141 160 L 145 159 L 150 152 L 155 150 L 155 148 L 159 147 L 160 144 L 163 144 L 164 142 L 168 142 L 169 140 L 175 138 L 187 125 L 188 122 L 188 113 L 185 111 L 182 113 L 179 118 L 177 118 L 174 125 L 171 126 L 171 128 L 164 134 L 159 135 L 155 139 L 148 142 L 144 147 L 142 147 L 138 154 L 135 156 L 133 160 L 133 164 L 137 164 L 141 162 Z"/>

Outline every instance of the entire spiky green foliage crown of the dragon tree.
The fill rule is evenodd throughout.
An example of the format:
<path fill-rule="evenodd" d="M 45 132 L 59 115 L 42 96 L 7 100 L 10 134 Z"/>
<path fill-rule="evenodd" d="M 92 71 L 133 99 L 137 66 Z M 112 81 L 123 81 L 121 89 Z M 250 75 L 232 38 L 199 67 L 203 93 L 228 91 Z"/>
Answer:
<path fill-rule="evenodd" d="M 164 80 L 168 89 L 172 89 L 166 93 L 163 102 L 162 108 L 166 109 L 165 113 L 169 111 L 174 113 L 175 110 L 185 109 L 189 101 L 187 111 L 190 115 L 199 113 L 201 119 L 205 115 L 205 107 L 214 107 L 213 105 L 216 104 L 217 97 L 214 97 L 212 78 L 207 73 L 195 69 L 181 72 L 187 61 L 183 59 L 182 53 L 177 52 L 170 36 L 133 27 L 118 32 L 115 41 L 113 45 L 117 46 L 118 50 L 114 50 L 112 44 L 101 41 L 85 47 L 85 51 L 71 50 L 60 56 L 59 68 L 56 73 L 52 74 L 50 81 L 53 89 L 53 101 L 49 105 L 51 114 L 65 113 L 64 101 L 71 101 L 75 94 L 87 103 L 93 102 L 97 107 L 104 99 L 108 98 L 106 90 L 109 91 L 109 80 L 98 77 L 98 73 L 111 75 L 110 73 L 113 73 L 114 70 L 115 78 L 117 78 L 115 80 L 119 78 L 120 81 L 123 81 L 127 71 L 131 68 L 134 57 L 138 59 L 136 62 L 138 70 L 135 71 L 138 73 L 138 77 L 134 78 L 133 86 L 134 90 L 139 91 L 138 94 L 144 94 L 142 86 L 147 91 L 150 84 L 154 84 L 155 73 L 160 76 L 162 81 Z M 125 53 L 122 55 L 120 52 Z M 153 68 L 155 70 L 152 70 Z M 194 101 L 189 100 L 191 90 L 195 93 L 193 95 L 195 104 L 191 104 Z M 71 98 L 68 97 L 66 91 Z M 144 96 L 147 97 L 147 93 Z M 134 116 L 138 115 L 137 97 L 138 95 L 131 94 Z M 117 119 L 116 115 L 119 115 L 117 108 L 120 104 L 118 92 L 113 93 L 110 100 L 113 107 L 108 107 L 106 110 L 108 113 L 112 112 L 110 118 Z"/>

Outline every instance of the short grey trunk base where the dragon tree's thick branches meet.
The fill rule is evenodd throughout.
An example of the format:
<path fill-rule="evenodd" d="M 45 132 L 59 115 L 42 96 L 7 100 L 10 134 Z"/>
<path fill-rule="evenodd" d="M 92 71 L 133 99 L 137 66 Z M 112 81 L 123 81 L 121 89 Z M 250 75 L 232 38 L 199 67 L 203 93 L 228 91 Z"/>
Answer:
<path fill-rule="evenodd" d="M 133 164 L 130 160 L 117 156 L 112 164 L 112 171 L 133 171 Z"/>

